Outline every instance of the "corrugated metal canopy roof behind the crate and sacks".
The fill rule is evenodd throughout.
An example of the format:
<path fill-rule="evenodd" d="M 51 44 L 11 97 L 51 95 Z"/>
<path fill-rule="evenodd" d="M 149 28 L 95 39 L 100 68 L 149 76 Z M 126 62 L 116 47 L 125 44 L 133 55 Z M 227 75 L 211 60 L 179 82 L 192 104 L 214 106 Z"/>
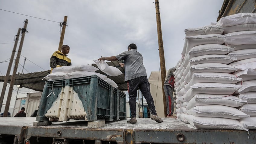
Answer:
<path fill-rule="evenodd" d="M 111 61 L 107 62 L 109 66 L 117 67 L 121 72 L 123 72 L 122 75 L 118 76 L 109 76 L 105 74 L 104 72 L 97 70 L 96 72 L 101 73 L 103 75 L 107 75 L 108 78 L 112 79 L 114 82 L 117 83 L 118 89 L 121 91 L 127 90 L 127 82 L 124 82 L 124 68 L 121 68 L 119 65 L 119 61 Z M 98 66 L 96 64 L 91 64 L 94 67 Z M 42 72 L 33 72 L 33 73 L 26 73 L 26 74 L 19 74 L 15 77 L 14 85 L 22 85 L 24 88 L 30 88 L 36 91 L 43 91 L 45 80 L 42 80 L 43 77 L 50 74 L 50 70 L 42 71 Z M 0 76 L 0 82 L 5 81 L 5 76 Z M 8 78 L 8 83 L 11 82 L 11 75 Z"/>

